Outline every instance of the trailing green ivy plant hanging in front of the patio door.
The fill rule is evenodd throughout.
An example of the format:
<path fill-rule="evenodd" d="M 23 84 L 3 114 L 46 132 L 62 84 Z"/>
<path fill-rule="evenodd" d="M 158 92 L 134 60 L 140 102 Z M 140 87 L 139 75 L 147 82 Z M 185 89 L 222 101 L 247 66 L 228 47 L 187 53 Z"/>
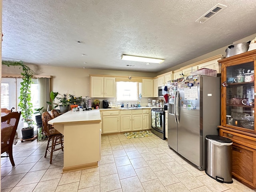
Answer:
<path fill-rule="evenodd" d="M 31 103 L 31 84 L 32 84 L 32 74 L 34 73 L 28 66 L 23 64 L 22 61 L 2 61 L 2 65 L 10 66 L 19 66 L 22 68 L 20 74 L 23 76 L 20 88 L 20 102 L 18 106 L 21 108 L 22 117 L 24 118 L 24 122 L 28 124 L 28 128 L 30 128 L 33 124 L 32 120 L 32 103 Z"/>

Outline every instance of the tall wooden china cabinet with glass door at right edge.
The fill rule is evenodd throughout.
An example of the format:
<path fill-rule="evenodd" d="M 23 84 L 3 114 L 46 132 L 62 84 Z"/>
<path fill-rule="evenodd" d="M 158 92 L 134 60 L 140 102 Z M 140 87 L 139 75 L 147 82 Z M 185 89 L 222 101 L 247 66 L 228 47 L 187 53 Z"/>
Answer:
<path fill-rule="evenodd" d="M 230 138 L 232 175 L 256 189 L 256 50 L 218 60 L 222 73 L 220 136 Z M 256 71 L 255 71 L 256 72 Z"/>

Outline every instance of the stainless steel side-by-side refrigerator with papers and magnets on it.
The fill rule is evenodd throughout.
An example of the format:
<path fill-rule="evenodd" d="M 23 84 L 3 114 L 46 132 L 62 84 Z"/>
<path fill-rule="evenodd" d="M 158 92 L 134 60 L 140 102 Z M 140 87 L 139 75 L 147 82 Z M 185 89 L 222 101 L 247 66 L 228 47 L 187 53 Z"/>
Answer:
<path fill-rule="evenodd" d="M 205 170 L 205 136 L 220 125 L 220 77 L 187 76 L 169 81 L 168 91 L 168 146 Z"/>

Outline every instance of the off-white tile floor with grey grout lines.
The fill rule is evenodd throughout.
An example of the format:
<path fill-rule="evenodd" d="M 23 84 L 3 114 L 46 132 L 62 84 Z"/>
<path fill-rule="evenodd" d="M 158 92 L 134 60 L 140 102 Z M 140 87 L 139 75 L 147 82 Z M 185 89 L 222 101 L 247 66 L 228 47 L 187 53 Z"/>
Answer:
<path fill-rule="evenodd" d="M 167 146 L 157 136 L 127 139 L 102 135 L 97 168 L 61 174 L 63 152 L 52 164 L 44 158 L 46 141 L 20 141 L 14 146 L 15 166 L 1 158 L 1 192 L 252 192 L 237 180 L 216 182 Z"/>

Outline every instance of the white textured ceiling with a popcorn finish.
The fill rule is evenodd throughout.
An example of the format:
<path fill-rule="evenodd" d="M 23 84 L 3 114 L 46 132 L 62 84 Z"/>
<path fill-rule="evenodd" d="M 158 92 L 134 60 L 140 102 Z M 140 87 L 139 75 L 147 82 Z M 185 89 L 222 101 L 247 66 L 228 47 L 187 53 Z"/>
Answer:
<path fill-rule="evenodd" d="M 217 3 L 227 8 L 195 22 Z M 3 0 L 2 60 L 159 72 L 256 33 L 255 18 L 254 0 Z"/>

